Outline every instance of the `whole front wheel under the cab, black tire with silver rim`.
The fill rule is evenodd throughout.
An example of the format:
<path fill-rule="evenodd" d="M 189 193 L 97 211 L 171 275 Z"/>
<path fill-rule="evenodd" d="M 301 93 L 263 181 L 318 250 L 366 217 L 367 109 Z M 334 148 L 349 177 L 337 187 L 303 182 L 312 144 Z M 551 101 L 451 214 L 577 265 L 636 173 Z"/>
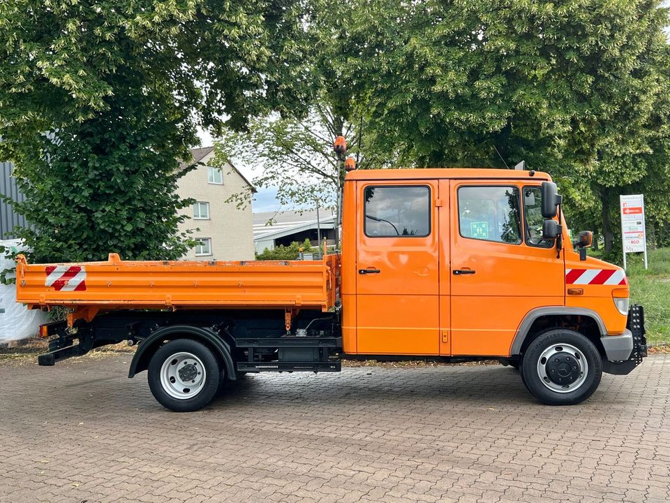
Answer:
<path fill-rule="evenodd" d="M 600 353 L 593 342 L 574 330 L 556 329 L 538 335 L 521 360 L 523 384 L 548 405 L 583 402 L 593 395 L 601 377 Z"/>

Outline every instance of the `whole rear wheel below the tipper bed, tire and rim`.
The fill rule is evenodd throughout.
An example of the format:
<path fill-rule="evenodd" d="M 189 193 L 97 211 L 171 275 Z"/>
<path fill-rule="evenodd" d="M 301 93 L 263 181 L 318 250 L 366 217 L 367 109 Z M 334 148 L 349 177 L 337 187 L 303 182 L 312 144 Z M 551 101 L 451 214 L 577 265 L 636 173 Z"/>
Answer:
<path fill-rule="evenodd" d="M 183 374 L 180 374 L 178 369 L 182 363 Z M 198 372 L 200 367 L 202 371 Z M 168 377 L 170 373 L 174 375 Z M 165 381 L 161 380 L 163 375 Z M 197 411 L 209 404 L 218 391 L 220 375 L 216 356 L 207 346 L 191 339 L 176 339 L 163 344 L 149 361 L 151 393 L 163 407 L 175 412 Z M 181 380 L 182 377 L 189 379 L 186 384 Z M 174 380 L 169 382 L 170 379 Z M 190 383 L 193 383 L 195 389 L 188 387 Z"/>

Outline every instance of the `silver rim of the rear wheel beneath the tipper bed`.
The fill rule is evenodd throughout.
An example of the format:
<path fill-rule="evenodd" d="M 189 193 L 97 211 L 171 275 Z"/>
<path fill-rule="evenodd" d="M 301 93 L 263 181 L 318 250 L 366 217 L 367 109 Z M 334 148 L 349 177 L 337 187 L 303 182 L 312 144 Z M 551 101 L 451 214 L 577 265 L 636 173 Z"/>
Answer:
<path fill-rule="evenodd" d="M 165 393 L 177 400 L 198 395 L 206 379 L 207 371 L 202 360 L 193 353 L 174 353 L 165 359 L 161 367 L 161 386 Z"/>

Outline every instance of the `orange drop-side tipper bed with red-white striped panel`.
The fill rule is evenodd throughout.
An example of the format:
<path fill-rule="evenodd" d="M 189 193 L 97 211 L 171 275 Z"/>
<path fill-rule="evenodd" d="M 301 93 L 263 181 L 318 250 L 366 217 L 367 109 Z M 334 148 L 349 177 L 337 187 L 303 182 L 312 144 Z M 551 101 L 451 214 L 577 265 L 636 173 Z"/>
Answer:
<path fill-rule="evenodd" d="M 321 261 L 122 261 L 17 264 L 17 301 L 78 309 L 288 307 L 327 311 L 336 255 Z"/>

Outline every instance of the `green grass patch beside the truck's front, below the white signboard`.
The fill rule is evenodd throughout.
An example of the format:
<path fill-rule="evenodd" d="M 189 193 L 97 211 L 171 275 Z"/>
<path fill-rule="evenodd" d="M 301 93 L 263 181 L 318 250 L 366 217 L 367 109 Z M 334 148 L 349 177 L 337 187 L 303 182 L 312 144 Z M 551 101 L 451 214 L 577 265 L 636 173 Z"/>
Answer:
<path fill-rule="evenodd" d="M 670 342 L 670 248 L 649 250 L 648 270 L 641 254 L 627 261 L 630 301 L 644 307 L 647 342 Z"/>

